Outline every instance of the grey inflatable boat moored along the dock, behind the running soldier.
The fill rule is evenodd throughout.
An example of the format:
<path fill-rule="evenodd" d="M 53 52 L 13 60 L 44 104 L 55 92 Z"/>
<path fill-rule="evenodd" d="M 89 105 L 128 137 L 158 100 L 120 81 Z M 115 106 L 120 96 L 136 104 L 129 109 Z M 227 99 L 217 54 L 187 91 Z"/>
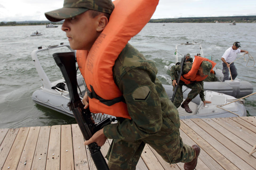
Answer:
<path fill-rule="evenodd" d="M 39 105 L 44 107 L 53 109 L 60 113 L 66 114 L 68 116 L 74 117 L 73 113 L 67 107 L 67 103 L 69 102 L 69 92 L 67 91 L 67 87 L 65 84 L 65 80 L 61 79 L 62 75 L 59 75 L 60 79 L 54 82 L 50 82 L 47 77 L 45 71 L 43 70 L 39 60 L 38 60 L 38 52 L 44 50 L 51 50 L 59 47 L 67 47 L 70 51 L 74 51 L 70 48 L 69 45 L 64 45 L 61 43 L 60 45 L 51 45 L 46 48 L 38 47 L 37 50 L 34 50 L 31 53 L 32 60 L 34 61 L 34 65 L 38 72 L 38 75 L 41 79 L 43 86 L 33 92 L 32 100 Z M 48 53 L 46 53 L 48 56 Z M 56 65 L 57 67 L 57 65 Z M 77 84 L 78 84 L 78 92 L 82 99 L 85 94 L 86 85 L 84 79 L 81 74 L 77 74 Z M 170 85 L 163 85 L 169 97 L 173 94 L 173 87 Z M 187 93 L 189 90 L 184 92 L 184 97 L 187 97 Z M 193 113 L 187 113 L 183 108 L 178 108 L 179 114 L 181 118 L 214 118 L 214 117 L 236 117 L 236 116 L 246 116 L 246 110 L 243 105 L 243 101 L 233 102 L 231 104 L 225 105 L 222 108 L 218 108 L 217 106 L 221 106 L 229 103 L 230 101 L 235 100 L 235 97 L 221 94 L 213 91 L 205 91 L 205 99 L 211 101 L 211 104 L 207 104 L 206 107 L 203 105 L 203 102 L 197 96 L 189 103 L 189 107 L 192 109 Z M 225 109 L 225 110 L 224 110 Z M 232 113 L 233 112 L 233 113 Z M 234 114 L 235 113 L 235 114 Z M 95 122 L 99 122 L 106 117 L 114 118 L 113 116 L 107 114 L 93 114 L 93 118 Z"/>

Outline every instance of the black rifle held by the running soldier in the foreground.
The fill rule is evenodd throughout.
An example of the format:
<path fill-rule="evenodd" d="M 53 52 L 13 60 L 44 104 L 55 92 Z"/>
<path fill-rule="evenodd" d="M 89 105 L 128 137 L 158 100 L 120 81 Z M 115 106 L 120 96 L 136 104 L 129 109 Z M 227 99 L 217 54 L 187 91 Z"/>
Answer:
<path fill-rule="evenodd" d="M 66 81 L 67 88 L 69 91 L 70 100 L 68 106 L 73 112 L 75 120 L 77 121 L 80 130 L 82 131 L 85 140 L 88 140 L 92 135 L 103 128 L 104 126 L 111 123 L 110 118 L 105 118 L 97 125 L 91 120 L 91 112 L 89 108 L 84 109 L 84 105 L 77 92 L 77 74 L 75 66 L 75 52 L 64 52 L 64 53 L 54 53 L 53 58 Z M 95 163 L 98 170 L 109 170 L 106 160 L 104 159 L 100 148 L 97 143 L 91 143 L 88 145 L 88 149 L 91 153 L 91 158 Z"/>

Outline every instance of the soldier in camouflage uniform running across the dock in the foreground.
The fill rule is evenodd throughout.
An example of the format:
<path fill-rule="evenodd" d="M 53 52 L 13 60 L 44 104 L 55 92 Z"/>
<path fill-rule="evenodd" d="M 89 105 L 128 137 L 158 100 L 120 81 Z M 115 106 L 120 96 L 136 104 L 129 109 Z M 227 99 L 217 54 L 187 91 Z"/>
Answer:
<path fill-rule="evenodd" d="M 99 12 L 107 11 L 104 10 L 104 5 L 112 4 L 111 0 L 81 0 L 75 1 L 77 3 L 74 5 L 73 1 L 65 0 L 64 6 L 74 5 L 75 8 L 80 4 L 79 2 L 84 2 L 82 6 L 86 9 L 86 2 L 89 1 L 97 4 L 97 8 L 92 10 Z M 107 5 L 108 8 L 110 6 Z M 81 6 L 79 7 L 81 8 Z M 87 24 L 95 23 L 94 21 L 100 17 L 87 18 L 89 15 L 87 12 L 78 12 L 75 15 L 74 11 L 71 12 L 72 15 L 64 15 L 65 7 L 61 8 L 60 11 L 47 12 L 47 19 L 50 21 L 65 19 L 62 30 L 69 37 L 71 48 L 90 50 L 92 44 L 87 42 L 87 39 L 96 40 L 98 34 L 94 35 L 87 32 L 87 29 L 91 29 L 92 32 L 95 32 L 94 29 L 96 29 L 94 25 L 87 28 Z M 101 15 L 105 14 L 99 14 L 98 16 Z M 91 22 L 91 20 L 93 21 Z M 87 24 L 83 24 L 84 22 Z M 82 27 L 82 29 L 77 27 Z M 79 36 L 77 37 L 77 35 Z M 86 39 L 83 37 L 86 37 Z M 200 147 L 197 145 L 190 147 L 182 142 L 179 133 L 178 111 L 169 100 L 156 75 L 155 63 L 146 60 L 130 44 L 125 46 L 115 61 L 113 67 L 114 81 L 123 93 L 131 120 L 120 118 L 118 123 L 105 126 L 88 141 L 85 141 L 85 145 L 96 142 L 98 146 L 102 146 L 107 138 L 113 139 L 106 155 L 111 170 L 135 169 L 146 143 L 170 164 L 184 162 L 186 170 L 194 169 L 197 164 Z M 83 99 L 85 108 L 88 107 L 87 101 L 88 96 L 85 95 Z"/>

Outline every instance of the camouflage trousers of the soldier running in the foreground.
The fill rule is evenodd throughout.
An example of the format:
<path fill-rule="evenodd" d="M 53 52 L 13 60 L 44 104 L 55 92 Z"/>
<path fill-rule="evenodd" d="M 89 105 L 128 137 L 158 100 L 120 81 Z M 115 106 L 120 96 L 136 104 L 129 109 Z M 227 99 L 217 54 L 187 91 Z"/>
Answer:
<path fill-rule="evenodd" d="M 179 123 L 180 125 L 180 123 Z M 114 139 L 106 158 L 110 170 L 136 169 L 145 144 L 149 144 L 168 163 L 191 162 L 194 149 L 182 142 L 179 127 L 163 116 L 162 128 L 157 133 L 138 141 Z"/>

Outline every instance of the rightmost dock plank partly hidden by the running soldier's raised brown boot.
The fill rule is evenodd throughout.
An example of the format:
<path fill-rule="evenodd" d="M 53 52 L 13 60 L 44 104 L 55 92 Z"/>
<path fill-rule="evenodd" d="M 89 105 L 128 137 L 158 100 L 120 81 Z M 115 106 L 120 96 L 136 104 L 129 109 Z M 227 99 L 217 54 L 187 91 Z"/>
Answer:
<path fill-rule="evenodd" d="M 182 130 L 180 130 L 180 136 L 182 138 L 182 141 L 186 143 L 189 146 L 195 145 L 195 142 L 186 135 Z M 198 157 L 198 162 L 203 162 L 205 166 L 207 166 L 208 169 L 211 170 L 219 170 L 222 169 L 222 167 L 213 159 L 211 156 L 209 156 L 203 149 L 200 151 L 200 155 Z M 207 169 L 206 167 L 196 167 L 196 169 Z"/>

